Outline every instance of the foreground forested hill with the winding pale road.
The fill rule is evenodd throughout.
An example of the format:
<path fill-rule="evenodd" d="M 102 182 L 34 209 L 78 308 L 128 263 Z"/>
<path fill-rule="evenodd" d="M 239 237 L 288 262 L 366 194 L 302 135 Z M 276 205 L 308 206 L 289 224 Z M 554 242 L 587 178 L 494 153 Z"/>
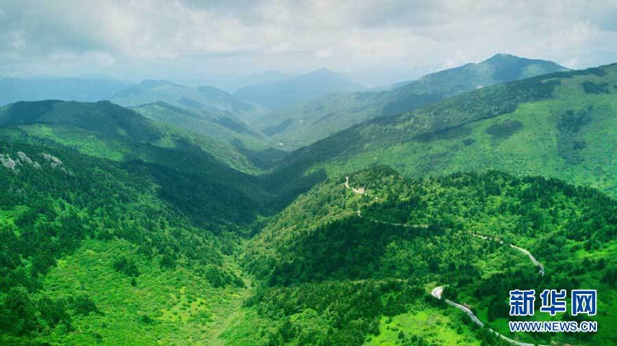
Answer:
<path fill-rule="evenodd" d="M 365 193 L 344 182 L 340 175 L 332 177 L 298 197 L 245 250 L 245 268 L 263 277 L 249 306 L 269 323 L 285 317 L 270 336 L 275 344 L 301 343 L 308 335 L 317 345 L 380 345 L 397 338 L 404 345 L 483 338 L 499 344 L 490 333 L 470 336 L 465 323 L 435 326 L 439 333 L 420 328 L 417 319 L 426 323 L 423 318 L 439 319 L 441 310 L 454 309 L 433 310 L 437 299 L 424 299 L 435 282 L 449 284 L 446 297 L 470 306 L 484 323 L 511 338 L 542 344 L 615 342 L 608 332 L 614 328 L 610 306 L 617 273 L 610 260 L 617 251 L 614 199 L 559 180 L 496 171 L 410 180 L 377 166 L 349 175 L 350 186 L 364 187 Z M 545 275 L 526 255 L 492 238 L 529 249 Z M 504 297 L 521 286 L 536 291 L 597 287 L 604 295 L 598 304 L 606 310 L 596 320 L 605 331 L 510 334 Z M 428 317 L 422 317 L 425 311 Z M 454 318 L 465 316 L 455 311 Z M 534 317 L 547 318 L 543 313 Z M 458 336 L 446 341 L 449 328 L 459 328 Z"/>

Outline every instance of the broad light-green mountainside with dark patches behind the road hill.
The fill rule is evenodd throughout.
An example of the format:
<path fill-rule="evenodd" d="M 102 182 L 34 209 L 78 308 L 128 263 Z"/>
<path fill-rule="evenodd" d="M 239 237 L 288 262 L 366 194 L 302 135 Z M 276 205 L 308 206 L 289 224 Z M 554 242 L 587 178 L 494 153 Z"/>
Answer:
<path fill-rule="evenodd" d="M 613 64 L 465 92 L 298 149 L 271 182 L 289 177 L 282 190 L 301 191 L 332 173 L 389 164 L 411 176 L 499 169 L 557 177 L 615 197 L 616 85 Z"/>

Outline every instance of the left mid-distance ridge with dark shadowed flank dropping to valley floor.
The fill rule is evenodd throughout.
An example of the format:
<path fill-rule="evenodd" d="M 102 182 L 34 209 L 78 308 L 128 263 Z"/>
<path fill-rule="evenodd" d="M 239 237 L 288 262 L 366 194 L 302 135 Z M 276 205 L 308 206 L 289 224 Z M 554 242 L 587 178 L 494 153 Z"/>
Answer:
<path fill-rule="evenodd" d="M 254 177 L 228 166 L 250 166 L 233 147 L 160 127 L 108 101 L 13 103 L 0 109 L 0 134 L 123 162 L 158 182 L 160 198 L 212 230 L 252 222 L 267 199 Z"/>

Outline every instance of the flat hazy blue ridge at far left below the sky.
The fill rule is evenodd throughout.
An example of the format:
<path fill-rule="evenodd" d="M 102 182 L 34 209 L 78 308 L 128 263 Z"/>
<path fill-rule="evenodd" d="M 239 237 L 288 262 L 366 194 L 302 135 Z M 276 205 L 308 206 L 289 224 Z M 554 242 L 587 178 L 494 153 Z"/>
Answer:
<path fill-rule="evenodd" d="M 108 100 L 128 85 L 107 79 L 0 77 L 0 106 L 16 101 Z"/>

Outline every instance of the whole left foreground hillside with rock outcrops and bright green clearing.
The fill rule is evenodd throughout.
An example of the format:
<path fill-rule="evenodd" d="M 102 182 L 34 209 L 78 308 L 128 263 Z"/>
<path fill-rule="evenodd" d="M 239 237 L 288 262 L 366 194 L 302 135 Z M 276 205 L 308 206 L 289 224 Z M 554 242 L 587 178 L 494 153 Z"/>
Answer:
<path fill-rule="evenodd" d="M 237 190 L 49 143 L 0 148 L 1 344 L 188 345 L 241 303 L 237 236 L 210 227 L 246 222 Z M 189 190 L 208 220 L 179 203 Z"/>

